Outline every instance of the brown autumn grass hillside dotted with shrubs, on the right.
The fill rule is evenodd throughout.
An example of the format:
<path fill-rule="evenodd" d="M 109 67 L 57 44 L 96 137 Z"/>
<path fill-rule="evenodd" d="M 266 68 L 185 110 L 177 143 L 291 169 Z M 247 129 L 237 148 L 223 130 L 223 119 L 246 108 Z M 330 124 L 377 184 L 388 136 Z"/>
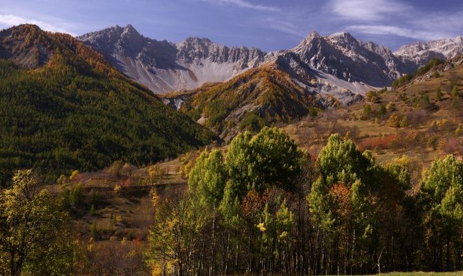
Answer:
<path fill-rule="evenodd" d="M 461 158 L 463 147 L 452 146 L 452 144 L 463 144 L 462 135 L 455 135 L 455 129 L 463 123 L 461 76 L 463 76 L 462 65 L 443 72 L 440 77 L 422 76 L 397 90 L 384 92 L 379 95 L 379 101 L 375 103 L 361 101 L 346 108 L 321 112 L 316 119 L 307 117 L 295 124 L 285 126 L 285 130 L 299 146 L 313 155 L 318 154 L 331 134 L 339 133 L 370 150 L 379 164 L 386 164 L 401 155 L 413 157 L 422 167 L 450 153 Z M 452 86 L 460 88 L 457 106 L 450 94 Z M 442 90 L 440 101 L 436 99 L 437 88 Z M 401 95 L 405 95 L 408 101 L 404 101 Z M 430 106 L 426 108 L 415 106 L 413 99 L 421 99 L 423 95 L 428 95 Z M 363 106 L 366 103 L 372 106 L 373 112 L 368 119 L 361 120 Z M 388 110 L 383 116 L 377 115 L 376 110 L 379 110 L 379 106 L 381 104 L 387 106 L 388 103 L 394 103 L 395 110 Z M 416 115 L 415 119 L 408 121 L 408 126 L 395 128 L 388 124 L 388 119 L 393 114 Z M 444 119 L 448 120 L 448 126 L 439 127 L 437 131 L 430 130 L 431 122 Z M 388 144 L 386 137 L 392 135 L 397 136 L 399 145 Z M 428 139 L 432 136 L 438 141 L 435 148 L 428 144 Z"/>

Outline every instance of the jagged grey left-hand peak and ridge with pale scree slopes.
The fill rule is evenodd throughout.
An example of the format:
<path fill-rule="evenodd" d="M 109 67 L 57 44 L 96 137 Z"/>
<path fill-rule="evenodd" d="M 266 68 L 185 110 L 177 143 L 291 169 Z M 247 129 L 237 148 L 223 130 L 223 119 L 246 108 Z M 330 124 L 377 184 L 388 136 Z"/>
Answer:
<path fill-rule="evenodd" d="M 133 26 L 115 26 L 78 39 L 103 53 L 125 75 L 153 92 L 198 88 L 222 82 L 264 61 L 256 48 L 232 47 L 209 39 L 189 38 L 174 44 L 143 37 Z"/>

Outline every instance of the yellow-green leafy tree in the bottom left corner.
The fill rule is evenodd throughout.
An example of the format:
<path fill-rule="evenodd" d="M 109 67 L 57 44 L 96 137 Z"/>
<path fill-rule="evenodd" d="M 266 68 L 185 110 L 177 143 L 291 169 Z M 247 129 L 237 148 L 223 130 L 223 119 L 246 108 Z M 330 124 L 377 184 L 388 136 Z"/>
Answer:
<path fill-rule="evenodd" d="M 0 197 L 2 274 L 70 274 L 73 248 L 66 240 L 67 221 L 61 202 L 40 187 L 32 170 L 17 171 L 12 187 Z"/>

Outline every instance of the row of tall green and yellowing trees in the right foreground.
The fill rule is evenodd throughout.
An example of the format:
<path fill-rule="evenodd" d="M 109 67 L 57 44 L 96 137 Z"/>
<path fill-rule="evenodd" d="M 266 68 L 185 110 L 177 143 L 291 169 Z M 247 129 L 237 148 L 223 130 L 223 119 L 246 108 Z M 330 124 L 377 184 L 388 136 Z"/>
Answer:
<path fill-rule="evenodd" d="M 385 166 L 332 135 L 314 158 L 283 130 L 202 152 L 185 193 L 153 193 L 156 275 L 366 274 L 461 270 L 463 163 Z"/>

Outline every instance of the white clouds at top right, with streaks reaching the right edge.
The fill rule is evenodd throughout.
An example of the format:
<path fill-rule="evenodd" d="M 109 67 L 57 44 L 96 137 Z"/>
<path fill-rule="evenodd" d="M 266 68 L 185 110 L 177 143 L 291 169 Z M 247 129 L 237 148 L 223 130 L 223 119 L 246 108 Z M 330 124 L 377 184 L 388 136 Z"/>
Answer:
<path fill-rule="evenodd" d="M 463 29 L 462 11 L 425 11 L 402 0 L 330 0 L 325 8 L 348 30 L 362 34 L 429 41 L 455 37 Z"/>

